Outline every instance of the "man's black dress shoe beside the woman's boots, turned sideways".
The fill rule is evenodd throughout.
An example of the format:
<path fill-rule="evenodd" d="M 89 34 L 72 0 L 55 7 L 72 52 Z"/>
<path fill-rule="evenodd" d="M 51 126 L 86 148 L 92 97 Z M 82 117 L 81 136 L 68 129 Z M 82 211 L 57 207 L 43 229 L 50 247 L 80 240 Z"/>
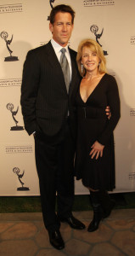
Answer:
<path fill-rule="evenodd" d="M 74 218 L 73 216 L 70 216 L 69 218 L 59 217 L 59 221 L 66 222 L 67 224 L 70 225 L 70 227 L 72 229 L 75 229 L 75 230 L 84 230 L 85 229 L 85 225 L 82 224 L 82 222 L 80 220 L 78 220 L 77 218 Z"/>

